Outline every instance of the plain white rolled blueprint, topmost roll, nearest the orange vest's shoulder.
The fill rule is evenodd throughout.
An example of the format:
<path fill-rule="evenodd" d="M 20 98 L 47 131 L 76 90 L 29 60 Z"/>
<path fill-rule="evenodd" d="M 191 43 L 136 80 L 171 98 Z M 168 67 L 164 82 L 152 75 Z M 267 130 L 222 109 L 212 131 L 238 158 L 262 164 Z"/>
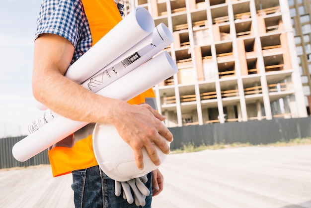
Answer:
<path fill-rule="evenodd" d="M 153 32 L 155 21 L 144 7 L 137 7 L 68 68 L 65 76 L 83 83 Z M 126 38 L 125 38 L 126 37 Z"/>

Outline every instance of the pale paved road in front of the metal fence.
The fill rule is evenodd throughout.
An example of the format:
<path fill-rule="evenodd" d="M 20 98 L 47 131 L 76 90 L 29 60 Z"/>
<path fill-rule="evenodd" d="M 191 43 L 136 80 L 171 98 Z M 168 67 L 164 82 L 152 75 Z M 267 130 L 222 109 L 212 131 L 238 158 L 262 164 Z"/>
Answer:
<path fill-rule="evenodd" d="M 153 208 L 311 208 L 311 145 L 171 154 Z M 0 170 L 0 208 L 73 208 L 71 176 Z"/>

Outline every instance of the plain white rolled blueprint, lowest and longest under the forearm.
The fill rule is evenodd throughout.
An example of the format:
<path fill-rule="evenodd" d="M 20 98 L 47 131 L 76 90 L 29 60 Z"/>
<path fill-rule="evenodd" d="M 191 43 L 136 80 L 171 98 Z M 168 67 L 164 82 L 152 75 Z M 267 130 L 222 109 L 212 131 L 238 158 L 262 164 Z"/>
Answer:
<path fill-rule="evenodd" d="M 177 65 L 165 51 L 96 94 L 128 101 L 176 73 Z M 26 161 L 86 124 L 88 122 L 74 121 L 59 115 L 39 130 L 17 142 L 12 148 L 12 154 L 16 160 Z"/>

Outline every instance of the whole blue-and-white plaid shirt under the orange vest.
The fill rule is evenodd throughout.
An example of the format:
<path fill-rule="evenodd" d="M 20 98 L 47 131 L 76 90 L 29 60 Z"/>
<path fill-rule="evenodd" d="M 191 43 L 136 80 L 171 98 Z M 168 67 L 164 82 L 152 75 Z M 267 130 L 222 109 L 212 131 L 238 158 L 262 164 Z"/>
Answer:
<path fill-rule="evenodd" d="M 115 3 L 123 15 L 123 5 Z M 42 33 L 60 35 L 75 46 L 72 64 L 92 46 L 92 36 L 81 0 L 43 0 L 35 39 Z"/>

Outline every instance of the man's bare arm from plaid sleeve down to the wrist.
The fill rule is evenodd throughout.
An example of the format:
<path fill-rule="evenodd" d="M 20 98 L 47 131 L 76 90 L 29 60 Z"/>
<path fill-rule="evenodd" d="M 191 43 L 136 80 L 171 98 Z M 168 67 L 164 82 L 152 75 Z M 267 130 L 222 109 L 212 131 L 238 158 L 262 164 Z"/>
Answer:
<path fill-rule="evenodd" d="M 102 115 L 109 116 L 109 106 L 121 103 L 90 93 L 64 77 L 74 51 L 65 38 L 51 34 L 40 36 L 34 49 L 33 94 L 51 110 L 73 120 L 105 122 Z"/>

